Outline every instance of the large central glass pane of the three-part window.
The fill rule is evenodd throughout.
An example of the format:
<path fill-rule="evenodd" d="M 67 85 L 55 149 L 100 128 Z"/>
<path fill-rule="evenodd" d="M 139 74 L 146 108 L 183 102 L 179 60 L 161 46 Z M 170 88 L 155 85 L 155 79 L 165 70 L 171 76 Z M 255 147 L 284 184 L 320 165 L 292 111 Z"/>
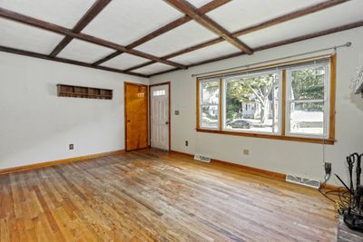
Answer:
<path fill-rule="evenodd" d="M 279 131 L 279 73 L 231 77 L 225 101 L 227 130 Z"/>

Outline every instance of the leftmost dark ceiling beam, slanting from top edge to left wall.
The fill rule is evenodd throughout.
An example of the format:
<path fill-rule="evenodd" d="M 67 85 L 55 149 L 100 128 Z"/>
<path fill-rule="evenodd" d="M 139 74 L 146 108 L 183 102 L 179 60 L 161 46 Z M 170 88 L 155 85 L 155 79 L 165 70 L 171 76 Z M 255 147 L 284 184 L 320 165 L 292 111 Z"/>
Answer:
<path fill-rule="evenodd" d="M 87 24 L 90 24 L 93 18 L 100 14 L 103 8 L 110 4 L 112 0 L 98 0 L 95 2 L 91 8 L 83 15 L 80 21 L 78 21 L 77 24 L 74 25 L 74 28 L 72 29 L 73 33 L 81 33 L 83 28 L 87 26 Z M 74 38 L 71 36 L 65 36 L 61 43 L 59 43 L 53 50 L 52 53 L 50 53 L 50 56 L 55 57 L 58 53 L 60 53 L 67 44 L 69 44 Z"/>

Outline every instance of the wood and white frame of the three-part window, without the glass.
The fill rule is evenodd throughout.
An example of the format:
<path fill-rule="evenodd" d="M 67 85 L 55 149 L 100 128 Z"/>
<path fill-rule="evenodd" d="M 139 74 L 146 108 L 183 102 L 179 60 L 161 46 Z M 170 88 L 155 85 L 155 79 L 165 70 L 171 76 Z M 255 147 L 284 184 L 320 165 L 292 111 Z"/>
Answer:
<path fill-rule="evenodd" d="M 322 58 L 329 58 L 329 63 L 316 63 L 309 64 L 308 62 L 319 60 Z M 298 67 L 291 67 L 285 65 L 294 63 L 307 63 L 307 65 L 301 65 Z M 274 140 L 290 140 L 290 141 L 299 141 L 299 142 L 309 142 L 309 143 L 319 143 L 319 144 L 330 144 L 333 145 L 335 143 L 335 102 L 336 102 L 336 63 L 337 63 L 337 54 L 333 53 L 329 56 L 320 55 L 315 57 L 309 57 L 304 59 L 299 59 L 295 61 L 283 62 L 283 63 L 273 63 L 264 66 L 254 67 L 250 69 L 245 69 L 241 71 L 235 71 L 231 73 L 248 73 L 250 71 L 260 71 L 260 73 L 273 73 L 272 70 L 267 71 L 267 69 L 271 69 L 273 67 L 277 67 L 280 70 L 279 72 L 279 132 L 261 132 L 261 131 L 233 131 L 225 129 L 225 109 L 226 103 L 224 98 L 224 90 L 227 81 L 222 80 L 223 76 L 230 73 L 219 73 L 210 76 L 203 76 L 202 79 L 197 77 L 196 79 L 196 90 L 197 90 L 197 99 L 196 99 L 196 131 L 198 132 L 209 132 L 209 133 L 218 133 L 218 134 L 226 134 L 226 135 L 236 135 L 236 136 L 245 136 L 245 137 L 254 137 L 254 138 L 263 138 L 263 139 L 274 139 Z M 327 65 L 327 73 L 326 78 L 324 80 L 324 102 L 327 102 L 324 112 L 324 122 L 326 122 L 326 133 L 324 136 L 314 135 L 314 134 L 301 134 L 301 133 L 291 133 L 289 132 L 289 72 L 290 70 L 295 69 L 306 69 L 308 66 L 321 66 Z M 256 73 L 256 74 L 260 74 Z M 254 74 L 254 73 L 253 73 Z M 219 82 L 219 125 L 218 128 L 203 128 L 201 127 L 201 82 L 208 82 L 208 79 L 211 78 L 216 80 L 220 79 Z M 326 85 L 327 84 L 327 85 Z M 325 105 L 324 105 L 325 106 Z"/>

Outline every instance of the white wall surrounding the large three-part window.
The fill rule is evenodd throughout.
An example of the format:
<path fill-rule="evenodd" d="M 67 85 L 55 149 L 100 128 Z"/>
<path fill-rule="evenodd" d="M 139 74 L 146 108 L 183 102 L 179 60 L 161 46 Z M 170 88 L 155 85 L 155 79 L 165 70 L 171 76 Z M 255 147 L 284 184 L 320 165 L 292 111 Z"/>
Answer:
<path fill-rule="evenodd" d="M 163 75 L 153 76 L 151 83 L 172 82 L 172 150 L 210 155 L 213 159 L 226 160 L 250 167 L 268 169 L 280 173 L 302 175 L 311 179 L 323 179 L 323 147 L 319 144 L 286 140 L 268 140 L 202 133 L 195 131 L 195 78 L 192 73 L 203 73 L 248 63 L 258 63 L 294 53 L 305 53 L 352 42 L 349 48 L 338 49 L 337 63 L 337 116 L 334 145 L 326 146 L 326 160 L 332 162 L 334 173 L 347 178 L 345 157 L 353 151 L 363 152 L 363 99 L 351 94 L 351 79 L 357 67 L 363 65 L 363 28 L 338 34 L 330 34 L 309 41 L 240 56 L 217 63 L 196 66 Z M 174 111 L 180 115 L 175 116 Z M 184 141 L 189 140 L 189 146 Z M 250 155 L 242 155 L 250 149 Z M 339 184 L 332 178 L 329 183 Z"/>

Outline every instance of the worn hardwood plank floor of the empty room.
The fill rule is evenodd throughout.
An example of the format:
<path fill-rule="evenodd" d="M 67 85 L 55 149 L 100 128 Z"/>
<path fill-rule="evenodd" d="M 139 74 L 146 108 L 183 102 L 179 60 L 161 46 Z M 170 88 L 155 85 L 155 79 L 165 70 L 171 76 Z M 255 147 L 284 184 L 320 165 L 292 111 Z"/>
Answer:
<path fill-rule="evenodd" d="M 0 176 L 1 241 L 335 241 L 314 189 L 158 150 Z"/>

